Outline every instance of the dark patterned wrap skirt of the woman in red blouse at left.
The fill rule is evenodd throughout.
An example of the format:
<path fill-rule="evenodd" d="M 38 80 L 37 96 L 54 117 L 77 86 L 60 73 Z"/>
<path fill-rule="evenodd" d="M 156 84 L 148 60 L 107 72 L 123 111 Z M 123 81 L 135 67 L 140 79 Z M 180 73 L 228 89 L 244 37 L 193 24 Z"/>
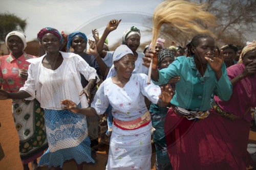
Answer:
<path fill-rule="evenodd" d="M 27 164 L 48 148 L 44 110 L 37 100 L 13 100 L 12 116 L 19 136 L 19 154 Z"/>

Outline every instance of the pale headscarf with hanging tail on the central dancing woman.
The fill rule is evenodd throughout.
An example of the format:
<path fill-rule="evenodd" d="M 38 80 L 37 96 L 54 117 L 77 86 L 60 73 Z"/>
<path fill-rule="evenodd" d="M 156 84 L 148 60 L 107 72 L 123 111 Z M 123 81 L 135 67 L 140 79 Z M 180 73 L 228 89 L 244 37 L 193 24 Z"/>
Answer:
<path fill-rule="evenodd" d="M 132 50 L 127 45 L 120 45 L 116 48 L 116 50 L 113 53 L 113 65 L 111 66 L 109 74 L 106 78 L 116 76 L 116 68 L 114 66 L 114 61 L 120 60 L 126 54 L 133 54 Z"/>

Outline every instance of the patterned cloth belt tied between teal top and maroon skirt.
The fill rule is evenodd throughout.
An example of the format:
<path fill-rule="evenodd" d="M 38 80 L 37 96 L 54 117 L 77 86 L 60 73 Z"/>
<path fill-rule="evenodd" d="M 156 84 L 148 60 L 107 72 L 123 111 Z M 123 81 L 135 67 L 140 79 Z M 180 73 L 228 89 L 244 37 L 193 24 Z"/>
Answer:
<path fill-rule="evenodd" d="M 178 106 L 173 107 L 176 114 L 186 117 L 188 120 L 193 120 L 195 118 L 203 119 L 209 115 L 209 111 L 188 111 Z"/>

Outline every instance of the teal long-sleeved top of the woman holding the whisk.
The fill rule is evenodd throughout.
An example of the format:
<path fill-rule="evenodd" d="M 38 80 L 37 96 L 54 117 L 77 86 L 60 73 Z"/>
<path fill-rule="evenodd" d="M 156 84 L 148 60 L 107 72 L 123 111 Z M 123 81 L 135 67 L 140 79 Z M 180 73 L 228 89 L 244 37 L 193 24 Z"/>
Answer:
<path fill-rule="evenodd" d="M 197 70 L 194 56 L 181 56 L 167 68 L 158 70 L 159 80 L 153 82 L 162 85 L 170 78 L 179 76 L 180 81 L 176 83 L 175 95 L 170 103 L 190 111 L 206 111 L 211 108 L 210 99 L 213 92 L 223 101 L 228 101 L 232 94 L 232 85 L 224 63 L 221 69 L 222 76 L 219 81 L 209 64 L 202 77 Z"/>

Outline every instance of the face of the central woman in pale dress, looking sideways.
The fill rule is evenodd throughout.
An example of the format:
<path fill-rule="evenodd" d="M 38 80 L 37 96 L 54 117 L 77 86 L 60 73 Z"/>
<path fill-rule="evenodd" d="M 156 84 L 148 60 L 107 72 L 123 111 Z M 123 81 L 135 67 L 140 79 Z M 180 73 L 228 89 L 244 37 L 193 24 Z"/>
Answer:
<path fill-rule="evenodd" d="M 114 65 L 118 75 L 130 79 L 135 68 L 135 57 L 133 54 L 126 54 L 120 60 L 114 61 Z"/>

